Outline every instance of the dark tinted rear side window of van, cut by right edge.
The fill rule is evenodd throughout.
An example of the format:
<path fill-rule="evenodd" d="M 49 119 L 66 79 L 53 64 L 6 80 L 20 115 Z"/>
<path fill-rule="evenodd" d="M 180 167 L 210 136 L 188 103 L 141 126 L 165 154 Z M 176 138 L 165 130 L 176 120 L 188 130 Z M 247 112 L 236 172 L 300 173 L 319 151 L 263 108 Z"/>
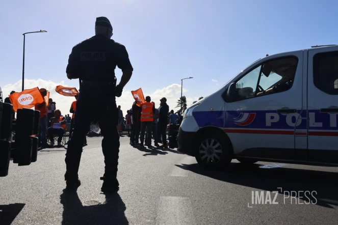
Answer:
<path fill-rule="evenodd" d="M 338 51 L 314 56 L 314 84 L 329 95 L 338 95 Z"/>

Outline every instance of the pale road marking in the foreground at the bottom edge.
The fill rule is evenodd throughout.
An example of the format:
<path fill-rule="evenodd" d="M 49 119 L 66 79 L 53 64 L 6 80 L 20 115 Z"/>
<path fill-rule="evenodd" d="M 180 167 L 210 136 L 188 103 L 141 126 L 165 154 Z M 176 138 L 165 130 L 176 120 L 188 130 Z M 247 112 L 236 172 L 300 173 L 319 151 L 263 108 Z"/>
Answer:
<path fill-rule="evenodd" d="M 193 207 L 189 198 L 163 196 L 158 210 L 159 225 L 196 224 Z"/>

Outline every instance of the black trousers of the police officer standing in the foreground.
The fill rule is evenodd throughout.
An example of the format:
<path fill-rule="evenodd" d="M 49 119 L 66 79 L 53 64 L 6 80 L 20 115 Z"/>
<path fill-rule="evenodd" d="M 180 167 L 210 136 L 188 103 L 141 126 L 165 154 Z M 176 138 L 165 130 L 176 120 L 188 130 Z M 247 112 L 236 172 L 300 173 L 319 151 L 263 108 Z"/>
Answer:
<path fill-rule="evenodd" d="M 89 125 L 94 118 L 99 121 L 102 139 L 102 152 L 105 156 L 105 177 L 116 180 L 118 155 L 119 155 L 119 133 L 117 131 L 117 107 L 115 97 L 110 97 L 109 92 L 103 92 L 107 88 L 93 88 L 81 86 L 81 93 L 76 102 L 76 120 L 74 129 L 69 139 L 66 153 L 66 180 L 78 178 L 82 148 L 85 135 L 89 131 Z"/>

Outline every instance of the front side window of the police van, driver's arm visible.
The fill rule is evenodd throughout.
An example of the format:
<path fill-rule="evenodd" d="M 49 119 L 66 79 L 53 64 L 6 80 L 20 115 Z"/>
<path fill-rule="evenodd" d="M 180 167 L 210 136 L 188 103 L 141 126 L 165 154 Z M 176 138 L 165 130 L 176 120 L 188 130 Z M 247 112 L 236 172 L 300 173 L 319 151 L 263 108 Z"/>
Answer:
<path fill-rule="evenodd" d="M 238 100 L 289 90 L 295 78 L 297 64 L 296 57 L 283 57 L 254 68 L 237 81 Z"/>

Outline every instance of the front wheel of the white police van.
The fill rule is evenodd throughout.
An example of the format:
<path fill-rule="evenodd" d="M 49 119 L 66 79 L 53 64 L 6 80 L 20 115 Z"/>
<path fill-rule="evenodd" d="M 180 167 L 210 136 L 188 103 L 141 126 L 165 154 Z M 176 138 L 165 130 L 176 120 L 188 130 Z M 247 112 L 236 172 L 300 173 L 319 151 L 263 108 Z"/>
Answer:
<path fill-rule="evenodd" d="M 206 150 L 204 150 L 202 144 L 206 147 Z M 212 145 L 212 148 L 208 149 L 209 146 L 206 145 Z M 205 151 L 205 153 L 203 153 L 203 151 Z M 203 168 L 207 170 L 223 168 L 231 162 L 232 155 L 233 150 L 227 136 L 213 132 L 203 133 L 198 137 L 198 142 L 195 147 L 195 158 L 198 164 Z"/>

